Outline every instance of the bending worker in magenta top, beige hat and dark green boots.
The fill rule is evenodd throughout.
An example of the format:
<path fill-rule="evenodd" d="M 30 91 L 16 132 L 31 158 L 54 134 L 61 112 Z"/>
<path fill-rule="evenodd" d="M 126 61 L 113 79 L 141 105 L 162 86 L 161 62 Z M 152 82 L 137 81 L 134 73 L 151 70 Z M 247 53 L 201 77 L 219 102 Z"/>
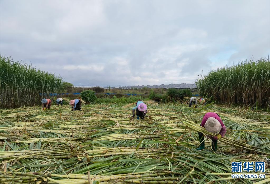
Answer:
<path fill-rule="evenodd" d="M 224 137 L 226 133 L 226 127 L 224 126 L 220 116 L 217 113 L 208 112 L 204 115 L 203 120 L 201 122 L 201 126 L 204 127 L 208 132 L 217 134 L 217 136 L 207 135 L 208 138 L 212 139 L 211 147 L 214 151 L 217 150 L 218 139 Z M 204 149 L 204 135 L 199 132 L 199 141 L 200 147 L 197 150 Z"/>

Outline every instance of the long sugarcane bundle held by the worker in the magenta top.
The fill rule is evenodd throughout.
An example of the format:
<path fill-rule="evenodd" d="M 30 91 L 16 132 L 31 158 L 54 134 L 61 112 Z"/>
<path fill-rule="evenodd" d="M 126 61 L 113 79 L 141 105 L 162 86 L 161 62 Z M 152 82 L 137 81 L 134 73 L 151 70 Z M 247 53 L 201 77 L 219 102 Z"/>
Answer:
<path fill-rule="evenodd" d="M 211 132 L 208 132 L 204 127 L 198 125 L 198 124 L 195 124 L 193 121 L 183 121 L 183 123 L 188 126 L 189 128 L 193 129 L 193 130 L 196 130 L 198 132 L 201 132 L 203 133 L 204 135 L 210 135 L 210 136 L 215 136 L 214 133 L 211 133 Z M 221 142 L 224 142 L 226 144 L 229 144 L 229 145 L 232 145 L 232 146 L 235 146 L 235 147 L 239 147 L 241 149 L 246 149 L 248 150 L 249 152 L 254 152 L 254 153 L 261 153 L 261 154 L 264 154 L 264 155 L 269 155 L 269 153 L 266 153 L 264 152 L 264 149 L 263 148 L 260 148 L 260 147 L 255 147 L 255 146 L 252 146 L 252 145 L 249 145 L 249 144 L 246 144 L 246 143 L 243 143 L 243 142 L 240 142 L 238 140 L 234 140 L 232 138 L 229 138 L 227 136 L 224 136 L 222 138 L 219 139 Z M 260 150 L 263 150 L 263 151 L 259 151 L 258 149 Z"/>

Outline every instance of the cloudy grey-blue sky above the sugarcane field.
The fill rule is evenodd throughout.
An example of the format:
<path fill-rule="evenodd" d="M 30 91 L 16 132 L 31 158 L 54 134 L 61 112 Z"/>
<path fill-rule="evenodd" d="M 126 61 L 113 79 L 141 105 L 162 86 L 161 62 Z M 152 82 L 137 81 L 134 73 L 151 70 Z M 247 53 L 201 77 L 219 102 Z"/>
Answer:
<path fill-rule="evenodd" d="M 193 84 L 270 55 L 270 1 L 0 0 L 0 54 L 74 85 Z"/>

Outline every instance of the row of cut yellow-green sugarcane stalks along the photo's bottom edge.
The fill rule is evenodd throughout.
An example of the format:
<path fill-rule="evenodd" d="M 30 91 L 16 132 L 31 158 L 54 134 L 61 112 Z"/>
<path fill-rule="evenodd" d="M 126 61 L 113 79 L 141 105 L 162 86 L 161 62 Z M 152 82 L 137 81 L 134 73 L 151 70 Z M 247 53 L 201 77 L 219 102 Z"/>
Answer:
<path fill-rule="evenodd" d="M 177 183 L 181 178 L 171 177 L 176 172 L 157 170 L 148 172 L 134 172 L 120 175 L 81 175 L 81 174 L 43 174 L 43 173 L 20 173 L 20 172 L 0 172 L 0 181 L 6 183 L 35 183 L 35 184 L 83 184 L 83 183 Z M 162 176 L 162 178 L 160 177 Z M 55 179 L 52 179 L 55 178 Z M 68 178 L 68 179 L 66 179 Z"/>

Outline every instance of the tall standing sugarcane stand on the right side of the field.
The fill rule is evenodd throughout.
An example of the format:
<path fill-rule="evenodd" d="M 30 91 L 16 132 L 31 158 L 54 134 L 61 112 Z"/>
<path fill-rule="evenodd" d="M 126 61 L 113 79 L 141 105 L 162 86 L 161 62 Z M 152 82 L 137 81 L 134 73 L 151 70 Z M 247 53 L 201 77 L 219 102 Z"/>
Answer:
<path fill-rule="evenodd" d="M 236 66 L 218 68 L 196 81 L 200 94 L 213 96 L 222 103 L 242 103 L 245 106 L 269 107 L 270 61 L 240 62 Z"/>

